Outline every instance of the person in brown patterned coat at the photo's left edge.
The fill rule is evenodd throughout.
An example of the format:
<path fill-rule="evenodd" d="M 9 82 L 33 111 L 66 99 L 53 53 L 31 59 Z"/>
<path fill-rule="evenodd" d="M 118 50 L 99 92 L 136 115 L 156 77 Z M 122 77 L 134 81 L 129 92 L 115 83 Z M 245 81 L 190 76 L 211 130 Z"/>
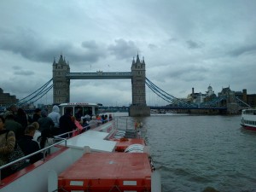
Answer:
<path fill-rule="evenodd" d="M 15 132 L 9 131 L 4 128 L 5 119 L 0 116 L 0 166 L 9 163 L 8 154 L 15 148 Z M 1 179 L 8 177 L 14 173 L 10 166 L 1 170 Z"/>

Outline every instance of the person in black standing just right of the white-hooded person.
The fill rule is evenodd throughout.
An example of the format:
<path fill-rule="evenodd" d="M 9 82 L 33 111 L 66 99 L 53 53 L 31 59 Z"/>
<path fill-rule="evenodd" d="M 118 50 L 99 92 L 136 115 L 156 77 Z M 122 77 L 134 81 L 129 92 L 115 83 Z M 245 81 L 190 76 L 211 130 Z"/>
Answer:
<path fill-rule="evenodd" d="M 73 123 L 71 119 L 71 113 L 72 113 L 72 108 L 66 108 L 65 114 L 63 114 L 60 118 L 60 131 L 61 134 L 73 131 L 76 129 L 76 125 Z M 68 137 L 68 134 L 65 134 L 61 136 L 63 138 Z"/>

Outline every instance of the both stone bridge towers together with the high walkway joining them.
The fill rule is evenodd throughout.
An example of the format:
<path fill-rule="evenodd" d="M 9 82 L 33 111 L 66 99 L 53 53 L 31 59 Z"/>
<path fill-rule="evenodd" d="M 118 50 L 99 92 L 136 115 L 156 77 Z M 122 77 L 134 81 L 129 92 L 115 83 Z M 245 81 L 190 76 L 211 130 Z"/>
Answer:
<path fill-rule="evenodd" d="M 58 62 L 53 62 L 53 101 L 62 103 L 70 101 L 71 79 L 131 79 L 132 104 L 130 116 L 148 116 L 150 108 L 146 104 L 146 67 L 145 61 L 140 61 L 137 55 L 136 61 L 132 60 L 131 72 L 103 73 L 71 73 L 69 64 L 62 55 Z"/>

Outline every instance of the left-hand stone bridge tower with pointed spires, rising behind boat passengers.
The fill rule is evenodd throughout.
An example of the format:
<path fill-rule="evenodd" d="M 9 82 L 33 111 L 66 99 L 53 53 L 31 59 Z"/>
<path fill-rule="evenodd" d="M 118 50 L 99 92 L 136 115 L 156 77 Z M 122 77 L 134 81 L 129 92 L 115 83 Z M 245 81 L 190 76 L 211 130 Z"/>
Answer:
<path fill-rule="evenodd" d="M 70 73 L 70 67 L 61 55 L 59 61 L 56 63 L 54 60 L 52 65 L 54 103 L 69 102 L 70 100 L 70 79 L 67 79 L 67 73 Z"/>

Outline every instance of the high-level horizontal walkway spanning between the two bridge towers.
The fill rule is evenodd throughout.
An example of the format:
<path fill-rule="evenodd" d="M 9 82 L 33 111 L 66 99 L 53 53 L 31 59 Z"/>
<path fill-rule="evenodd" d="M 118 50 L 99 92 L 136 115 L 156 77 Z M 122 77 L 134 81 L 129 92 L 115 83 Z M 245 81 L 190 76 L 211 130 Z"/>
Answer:
<path fill-rule="evenodd" d="M 131 79 L 131 72 L 67 73 L 68 79 Z"/>

